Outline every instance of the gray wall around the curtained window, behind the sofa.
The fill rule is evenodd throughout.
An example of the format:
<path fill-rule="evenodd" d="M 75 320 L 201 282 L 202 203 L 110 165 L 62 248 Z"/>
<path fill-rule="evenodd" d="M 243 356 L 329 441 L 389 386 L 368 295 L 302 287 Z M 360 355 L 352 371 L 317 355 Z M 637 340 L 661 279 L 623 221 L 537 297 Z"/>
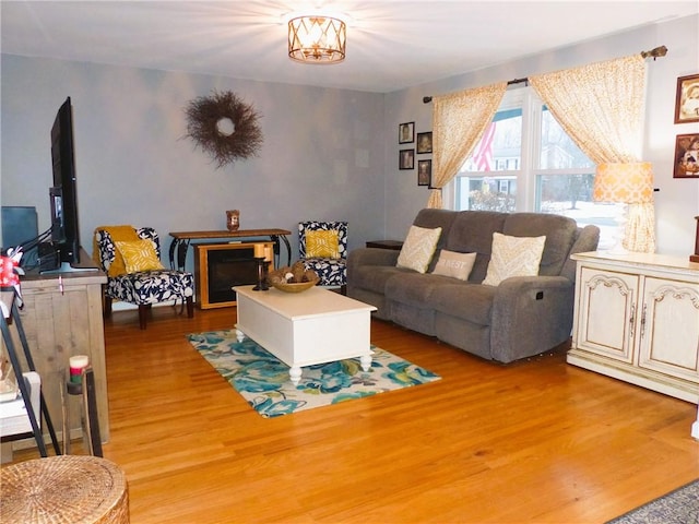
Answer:
<path fill-rule="evenodd" d="M 417 187 L 415 172 L 398 170 L 399 123 L 415 121 L 416 131 L 431 130 L 431 104 L 423 104 L 423 96 L 625 57 L 662 45 L 667 46 L 667 56 L 649 60 L 648 66 L 643 159 L 653 163 L 655 188 L 660 189 L 655 193 L 657 252 L 682 257 L 694 252 L 699 179 L 673 179 L 673 163 L 676 135 L 699 133 L 699 123 L 674 124 L 673 120 L 677 78 L 699 73 L 699 16 L 650 25 L 387 95 L 387 237 L 403 238 L 417 210 L 427 203 L 428 192 Z"/>

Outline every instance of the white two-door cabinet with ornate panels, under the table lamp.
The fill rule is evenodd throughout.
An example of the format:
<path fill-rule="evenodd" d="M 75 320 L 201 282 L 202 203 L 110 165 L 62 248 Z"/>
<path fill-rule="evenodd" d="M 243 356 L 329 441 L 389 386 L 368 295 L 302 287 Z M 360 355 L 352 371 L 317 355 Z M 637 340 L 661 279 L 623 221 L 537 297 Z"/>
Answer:
<path fill-rule="evenodd" d="M 578 253 L 569 364 L 699 402 L 699 263 Z"/>

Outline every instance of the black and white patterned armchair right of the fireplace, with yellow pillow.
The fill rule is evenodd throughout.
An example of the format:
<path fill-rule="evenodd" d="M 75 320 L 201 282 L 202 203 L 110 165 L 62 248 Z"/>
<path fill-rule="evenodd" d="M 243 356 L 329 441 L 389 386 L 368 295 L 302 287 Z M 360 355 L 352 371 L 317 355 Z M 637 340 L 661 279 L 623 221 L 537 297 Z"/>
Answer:
<path fill-rule="evenodd" d="M 347 223 L 308 221 L 298 224 L 299 260 L 320 277 L 319 286 L 347 289 Z"/>

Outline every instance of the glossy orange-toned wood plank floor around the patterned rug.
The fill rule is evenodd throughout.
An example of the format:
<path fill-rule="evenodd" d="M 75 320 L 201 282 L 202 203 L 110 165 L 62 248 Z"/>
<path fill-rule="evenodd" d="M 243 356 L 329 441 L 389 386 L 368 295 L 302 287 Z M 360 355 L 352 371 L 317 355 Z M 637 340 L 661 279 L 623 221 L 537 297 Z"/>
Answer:
<path fill-rule="evenodd" d="M 264 419 L 185 338 L 235 308 L 137 317 L 106 322 L 104 446 L 134 524 L 602 523 L 699 477 L 697 406 L 562 352 L 499 366 L 375 321 L 377 346 L 442 380 Z"/>

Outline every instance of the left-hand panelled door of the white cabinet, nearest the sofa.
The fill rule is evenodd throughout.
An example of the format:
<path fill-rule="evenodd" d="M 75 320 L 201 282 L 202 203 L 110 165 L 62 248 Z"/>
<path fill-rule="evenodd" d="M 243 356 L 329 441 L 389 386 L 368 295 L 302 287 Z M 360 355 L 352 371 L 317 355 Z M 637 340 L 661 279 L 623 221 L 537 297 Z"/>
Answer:
<path fill-rule="evenodd" d="M 638 276 L 583 266 L 581 277 L 578 346 L 632 364 Z"/>

